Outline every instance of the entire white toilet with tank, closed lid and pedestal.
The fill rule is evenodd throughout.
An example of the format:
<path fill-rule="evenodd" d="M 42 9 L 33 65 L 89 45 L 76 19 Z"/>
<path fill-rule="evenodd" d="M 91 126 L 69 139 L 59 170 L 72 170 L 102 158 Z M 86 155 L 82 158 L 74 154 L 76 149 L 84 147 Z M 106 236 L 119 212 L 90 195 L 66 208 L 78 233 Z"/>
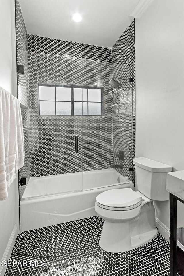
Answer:
<path fill-rule="evenodd" d="M 96 197 L 95 211 L 104 219 L 100 247 L 112 253 L 125 252 L 151 241 L 158 233 L 153 200 L 169 200 L 166 173 L 172 167 L 138 157 L 133 159 L 137 189 L 113 189 Z"/>

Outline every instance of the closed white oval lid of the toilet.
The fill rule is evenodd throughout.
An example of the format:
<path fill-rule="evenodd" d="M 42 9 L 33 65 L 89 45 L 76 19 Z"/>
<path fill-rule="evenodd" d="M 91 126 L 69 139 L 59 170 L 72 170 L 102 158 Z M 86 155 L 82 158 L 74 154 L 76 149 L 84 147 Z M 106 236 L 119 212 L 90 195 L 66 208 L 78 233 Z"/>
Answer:
<path fill-rule="evenodd" d="M 124 188 L 105 191 L 96 197 L 96 201 L 100 205 L 122 208 L 141 204 L 142 197 L 131 188 Z"/>

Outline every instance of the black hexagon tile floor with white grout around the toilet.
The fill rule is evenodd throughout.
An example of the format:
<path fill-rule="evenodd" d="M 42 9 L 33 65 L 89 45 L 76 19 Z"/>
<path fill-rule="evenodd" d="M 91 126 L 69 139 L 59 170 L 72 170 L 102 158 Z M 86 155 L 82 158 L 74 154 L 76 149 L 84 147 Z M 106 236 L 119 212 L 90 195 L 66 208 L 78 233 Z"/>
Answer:
<path fill-rule="evenodd" d="M 169 243 L 160 234 L 134 250 L 108 253 L 99 246 L 103 223 L 95 216 L 21 233 L 10 259 L 45 266 L 10 266 L 5 276 L 169 275 Z"/>

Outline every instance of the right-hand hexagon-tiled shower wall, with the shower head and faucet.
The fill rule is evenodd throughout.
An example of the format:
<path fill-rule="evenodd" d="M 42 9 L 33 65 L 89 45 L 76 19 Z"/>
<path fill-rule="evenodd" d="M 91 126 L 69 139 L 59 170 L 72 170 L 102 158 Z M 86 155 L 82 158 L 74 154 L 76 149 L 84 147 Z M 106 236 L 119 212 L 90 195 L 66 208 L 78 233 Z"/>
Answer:
<path fill-rule="evenodd" d="M 121 66 L 120 66 L 121 65 Z M 114 79 L 123 76 L 123 87 L 128 97 L 126 98 L 127 112 L 113 116 L 113 152 L 118 148 L 125 151 L 123 175 L 129 177 L 135 183 L 135 167 L 132 159 L 135 158 L 135 41 L 134 21 L 112 46 L 112 77 Z M 133 78 L 132 83 L 128 79 Z M 127 95 L 126 93 L 126 95 Z M 114 164 L 118 159 L 113 156 Z M 129 168 L 133 167 L 133 173 Z"/>

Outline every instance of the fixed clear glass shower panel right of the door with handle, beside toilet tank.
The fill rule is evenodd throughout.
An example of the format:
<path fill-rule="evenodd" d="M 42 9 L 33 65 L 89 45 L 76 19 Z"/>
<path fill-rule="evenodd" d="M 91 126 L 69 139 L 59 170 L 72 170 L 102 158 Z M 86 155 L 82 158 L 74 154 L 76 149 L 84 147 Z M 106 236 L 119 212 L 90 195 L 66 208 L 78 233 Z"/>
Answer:
<path fill-rule="evenodd" d="M 111 78 L 118 89 L 108 84 Z M 97 175 L 103 182 L 111 168 L 132 180 L 132 80 L 132 66 L 83 60 L 83 190 L 105 186 L 108 180 L 99 183 Z"/>

